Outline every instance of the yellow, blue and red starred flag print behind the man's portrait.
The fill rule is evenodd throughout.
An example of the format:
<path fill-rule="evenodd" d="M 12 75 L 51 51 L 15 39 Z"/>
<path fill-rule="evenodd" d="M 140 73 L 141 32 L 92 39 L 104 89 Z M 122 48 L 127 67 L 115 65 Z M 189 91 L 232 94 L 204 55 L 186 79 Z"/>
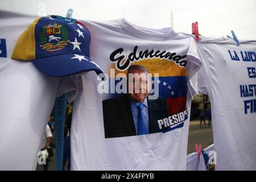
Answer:
<path fill-rule="evenodd" d="M 152 77 L 152 89 L 155 88 L 155 84 L 159 86 L 159 96 L 166 98 L 169 114 L 176 114 L 186 109 L 187 100 L 187 71 L 186 68 L 180 67 L 174 62 L 167 59 L 144 59 L 135 61 L 133 64 L 143 65 L 148 69 L 148 72 L 154 76 L 154 73 L 158 73 L 159 77 Z M 119 73 L 127 74 L 126 71 L 118 71 L 114 64 L 112 69 L 115 69 L 115 77 L 120 75 Z M 110 75 L 110 73 L 109 73 Z M 114 79 L 114 78 L 110 78 Z M 115 84 L 119 81 L 115 80 Z M 112 94 L 110 97 L 116 97 L 117 94 Z"/>

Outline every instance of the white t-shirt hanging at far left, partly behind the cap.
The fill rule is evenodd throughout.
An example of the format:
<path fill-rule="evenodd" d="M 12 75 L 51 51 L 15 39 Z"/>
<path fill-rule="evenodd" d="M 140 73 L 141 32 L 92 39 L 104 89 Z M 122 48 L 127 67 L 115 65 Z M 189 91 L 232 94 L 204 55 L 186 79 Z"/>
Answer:
<path fill-rule="evenodd" d="M 64 92 L 60 78 L 39 72 L 31 62 L 11 59 L 20 34 L 36 16 L 0 14 L 0 170 L 34 170 L 55 96 Z M 72 90 L 69 83 L 66 77 L 67 92 Z"/>

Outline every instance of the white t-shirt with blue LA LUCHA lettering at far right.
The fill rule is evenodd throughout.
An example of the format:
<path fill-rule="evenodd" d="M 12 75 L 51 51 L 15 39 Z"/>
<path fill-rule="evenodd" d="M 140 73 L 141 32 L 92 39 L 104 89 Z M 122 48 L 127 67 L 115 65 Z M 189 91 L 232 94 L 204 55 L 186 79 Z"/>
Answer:
<path fill-rule="evenodd" d="M 201 38 L 192 95 L 208 94 L 217 170 L 256 169 L 256 42 Z"/>

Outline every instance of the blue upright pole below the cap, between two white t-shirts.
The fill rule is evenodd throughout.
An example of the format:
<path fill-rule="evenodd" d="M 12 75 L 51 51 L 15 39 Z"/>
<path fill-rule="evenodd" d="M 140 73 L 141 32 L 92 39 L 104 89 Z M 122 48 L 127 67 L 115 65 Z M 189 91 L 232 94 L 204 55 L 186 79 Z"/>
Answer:
<path fill-rule="evenodd" d="M 56 169 L 62 171 L 65 111 L 67 105 L 67 94 L 55 98 L 54 122 L 55 122 L 55 148 L 56 148 Z"/>

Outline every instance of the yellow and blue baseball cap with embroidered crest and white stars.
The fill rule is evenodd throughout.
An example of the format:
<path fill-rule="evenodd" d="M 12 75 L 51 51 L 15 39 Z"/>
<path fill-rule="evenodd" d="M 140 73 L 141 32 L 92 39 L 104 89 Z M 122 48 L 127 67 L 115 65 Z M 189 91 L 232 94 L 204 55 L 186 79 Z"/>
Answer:
<path fill-rule="evenodd" d="M 90 59 L 90 33 L 76 19 L 65 22 L 62 16 L 37 18 L 20 35 L 12 59 L 32 61 L 49 76 L 61 77 L 102 69 Z"/>

